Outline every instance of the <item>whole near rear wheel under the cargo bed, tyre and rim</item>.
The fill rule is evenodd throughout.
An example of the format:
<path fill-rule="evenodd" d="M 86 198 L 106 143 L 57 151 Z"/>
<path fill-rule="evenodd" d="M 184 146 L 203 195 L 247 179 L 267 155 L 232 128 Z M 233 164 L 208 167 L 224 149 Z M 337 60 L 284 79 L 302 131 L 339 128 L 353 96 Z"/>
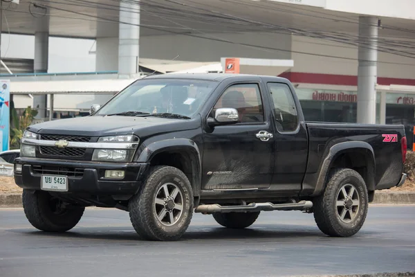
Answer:
<path fill-rule="evenodd" d="M 365 181 L 355 170 L 335 170 L 324 193 L 313 199 L 315 222 L 320 231 L 333 237 L 348 237 L 360 231 L 368 209 Z"/>

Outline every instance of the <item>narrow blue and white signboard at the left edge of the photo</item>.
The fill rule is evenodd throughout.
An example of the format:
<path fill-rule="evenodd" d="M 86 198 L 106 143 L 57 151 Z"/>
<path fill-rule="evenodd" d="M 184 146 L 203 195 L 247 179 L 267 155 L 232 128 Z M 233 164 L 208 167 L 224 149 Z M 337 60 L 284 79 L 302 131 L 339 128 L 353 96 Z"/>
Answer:
<path fill-rule="evenodd" d="M 9 149 L 10 80 L 0 80 L 0 152 Z"/>

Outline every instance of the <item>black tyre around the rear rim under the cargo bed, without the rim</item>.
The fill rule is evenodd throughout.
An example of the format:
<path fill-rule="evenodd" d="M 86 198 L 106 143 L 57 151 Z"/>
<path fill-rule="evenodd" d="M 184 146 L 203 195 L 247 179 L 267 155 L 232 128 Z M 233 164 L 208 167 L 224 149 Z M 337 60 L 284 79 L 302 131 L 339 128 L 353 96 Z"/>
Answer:
<path fill-rule="evenodd" d="M 343 222 L 340 219 L 336 206 L 338 193 L 346 184 L 353 185 L 359 196 L 360 206 L 358 206 L 356 217 L 351 222 Z M 358 233 L 362 228 L 366 220 L 368 204 L 367 186 L 362 176 L 349 168 L 335 169 L 329 175 L 322 195 L 313 199 L 314 219 L 324 234 L 332 237 L 349 237 Z"/>

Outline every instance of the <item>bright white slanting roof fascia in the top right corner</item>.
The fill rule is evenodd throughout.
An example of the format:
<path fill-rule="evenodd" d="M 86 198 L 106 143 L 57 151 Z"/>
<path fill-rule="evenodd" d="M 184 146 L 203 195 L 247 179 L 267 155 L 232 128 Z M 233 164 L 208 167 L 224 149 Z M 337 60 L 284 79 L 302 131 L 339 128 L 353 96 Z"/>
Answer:
<path fill-rule="evenodd" d="M 414 0 L 326 0 L 327 10 L 415 19 Z"/>

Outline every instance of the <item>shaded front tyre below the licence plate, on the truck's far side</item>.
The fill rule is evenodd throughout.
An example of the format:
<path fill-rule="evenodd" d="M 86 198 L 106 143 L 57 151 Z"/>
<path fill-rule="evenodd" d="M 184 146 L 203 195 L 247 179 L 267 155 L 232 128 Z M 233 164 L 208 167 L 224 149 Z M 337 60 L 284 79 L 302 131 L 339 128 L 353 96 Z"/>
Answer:
<path fill-rule="evenodd" d="M 80 222 L 85 207 L 71 206 L 63 208 L 59 213 L 53 211 L 54 199 L 43 190 L 23 190 L 22 204 L 26 218 L 36 229 L 46 232 L 66 232 Z"/>

